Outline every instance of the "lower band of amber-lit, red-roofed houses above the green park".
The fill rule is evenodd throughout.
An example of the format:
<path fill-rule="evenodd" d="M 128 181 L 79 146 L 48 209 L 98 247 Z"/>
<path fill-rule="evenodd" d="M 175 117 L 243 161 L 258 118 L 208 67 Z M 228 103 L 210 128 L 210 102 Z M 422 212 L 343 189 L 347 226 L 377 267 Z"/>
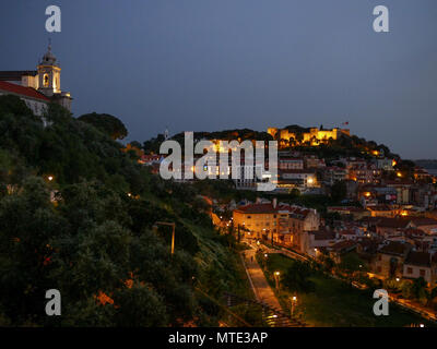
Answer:
<path fill-rule="evenodd" d="M 339 207 L 328 210 L 338 212 Z M 232 224 L 248 239 L 288 246 L 315 258 L 324 254 L 340 263 L 343 255 L 355 252 L 371 277 L 423 277 L 429 285 L 437 281 L 436 218 L 371 216 L 368 210 L 351 220 L 352 210 L 344 208 L 328 226 L 316 209 L 277 203 L 275 198 L 258 200 L 233 209 Z"/>

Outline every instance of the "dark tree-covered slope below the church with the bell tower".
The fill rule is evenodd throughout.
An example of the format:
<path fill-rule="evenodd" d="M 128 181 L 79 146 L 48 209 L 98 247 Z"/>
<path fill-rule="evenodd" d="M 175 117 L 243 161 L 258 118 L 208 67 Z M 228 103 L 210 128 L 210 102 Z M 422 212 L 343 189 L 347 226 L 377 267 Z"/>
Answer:
<path fill-rule="evenodd" d="M 0 325 L 217 325 L 214 299 L 248 296 L 196 189 L 151 176 L 105 128 L 1 96 L 0 131 Z M 157 220 L 176 224 L 173 256 Z M 62 316 L 45 313 L 49 289 Z"/>

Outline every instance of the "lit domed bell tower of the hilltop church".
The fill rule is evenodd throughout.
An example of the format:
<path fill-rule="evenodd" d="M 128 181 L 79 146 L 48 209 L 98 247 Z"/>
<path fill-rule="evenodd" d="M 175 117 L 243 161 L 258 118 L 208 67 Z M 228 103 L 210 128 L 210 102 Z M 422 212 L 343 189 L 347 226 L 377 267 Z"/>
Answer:
<path fill-rule="evenodd" d="M 38 64 L 38 91 L 47 97 L 61 93 L 61 69 L 51 53 L 51 44 Z"/>

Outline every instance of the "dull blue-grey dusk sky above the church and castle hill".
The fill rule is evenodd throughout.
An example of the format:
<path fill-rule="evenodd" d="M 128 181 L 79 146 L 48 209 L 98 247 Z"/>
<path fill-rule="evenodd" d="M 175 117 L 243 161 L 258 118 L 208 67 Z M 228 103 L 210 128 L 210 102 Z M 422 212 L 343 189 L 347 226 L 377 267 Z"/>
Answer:
<path fill-rule="evenodd" d="M 61 33 L 45 31 L 50 4 Z M 373 29 L 379 4 L 390 33 Z M 114 115 L 130 141 L 349 121 L 437 158 L 436 0 L 1 0 L 0 13 L 0 70 L 35 70 L 51 37 L 74 116 Z"/>

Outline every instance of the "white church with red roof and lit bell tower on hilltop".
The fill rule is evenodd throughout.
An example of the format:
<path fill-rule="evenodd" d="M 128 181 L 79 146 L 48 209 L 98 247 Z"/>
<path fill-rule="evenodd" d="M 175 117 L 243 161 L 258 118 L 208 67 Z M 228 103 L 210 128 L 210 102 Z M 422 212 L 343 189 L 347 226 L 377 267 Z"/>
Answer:
<path fill-rule="evenodd" d="M 49 103 L 71 111 L 71 95 L 61 91 L 61 68 L 48 46 L 37 70 L 0 71 L 0 95 L 15 95 L 37 116 L 43 116 Z"/>

